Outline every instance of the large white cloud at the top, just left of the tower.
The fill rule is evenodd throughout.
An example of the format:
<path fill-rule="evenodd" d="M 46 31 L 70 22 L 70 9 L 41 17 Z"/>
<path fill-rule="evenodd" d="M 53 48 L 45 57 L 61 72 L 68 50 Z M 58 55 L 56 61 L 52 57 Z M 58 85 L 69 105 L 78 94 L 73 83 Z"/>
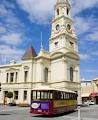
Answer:
<path fill-rule="evenodd" d="M 17 2 L 28 13 L 31 21 L 46 24 L 53 14 L 55 0 L 17 0 Z"/>

